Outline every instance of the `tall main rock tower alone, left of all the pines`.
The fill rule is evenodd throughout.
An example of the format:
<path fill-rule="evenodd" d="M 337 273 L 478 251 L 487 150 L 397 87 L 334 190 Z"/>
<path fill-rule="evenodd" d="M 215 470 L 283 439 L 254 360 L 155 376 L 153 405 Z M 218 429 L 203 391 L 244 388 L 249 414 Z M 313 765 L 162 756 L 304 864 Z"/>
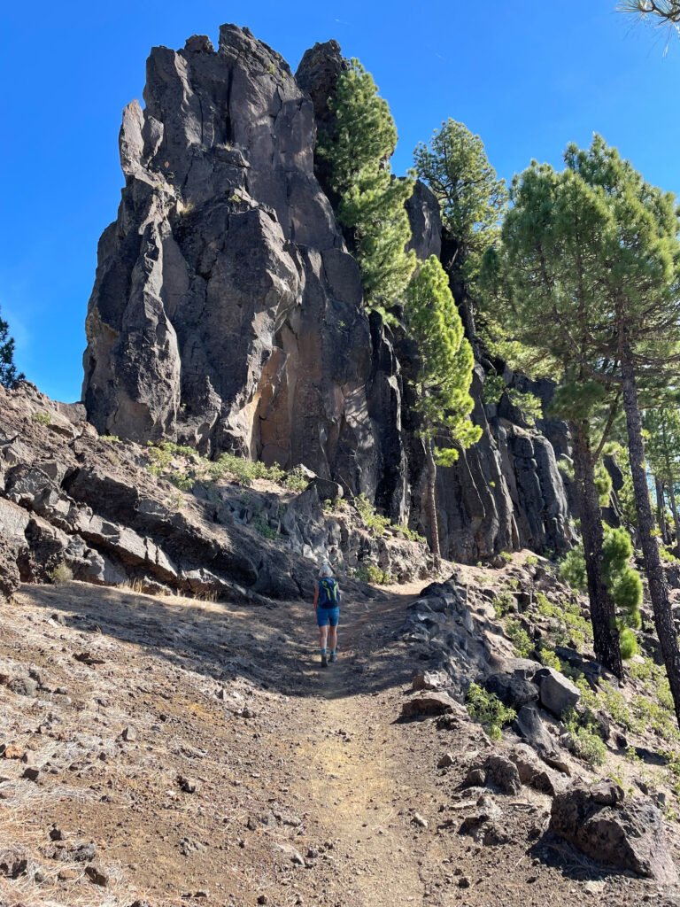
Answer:
<path fill-rule="evenodd" d="M 123 113 L 84 401 L 107 434 L 307 463 L 373 493 L 372 340 L 314 176 L 312 103 L 248 30 L 154 48 Z"/>

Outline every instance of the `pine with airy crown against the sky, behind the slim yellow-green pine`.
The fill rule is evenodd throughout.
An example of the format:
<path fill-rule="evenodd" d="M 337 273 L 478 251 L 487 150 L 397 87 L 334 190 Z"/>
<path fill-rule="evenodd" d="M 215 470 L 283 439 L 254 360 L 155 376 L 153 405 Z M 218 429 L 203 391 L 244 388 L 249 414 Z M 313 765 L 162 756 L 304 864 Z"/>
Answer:
<path fill-rule="evenodd" d="M 479 135 L 452 119 L 417 146 L 413 165 L 440 203 L 453 246 L 445 256 L 446 268 L 467 336 L 474 342 L 476 282 L 482 255 L 498 233 L 508 197 L 505 182 L 491 167 Z"/>

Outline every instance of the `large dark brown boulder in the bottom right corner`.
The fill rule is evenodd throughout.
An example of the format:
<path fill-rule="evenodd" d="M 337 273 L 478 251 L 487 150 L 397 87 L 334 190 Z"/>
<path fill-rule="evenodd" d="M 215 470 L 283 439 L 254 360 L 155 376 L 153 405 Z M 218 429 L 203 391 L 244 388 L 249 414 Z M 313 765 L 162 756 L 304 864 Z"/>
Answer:
<path fill-rule="evenodd" d="M 557 795 L 549 828 L 598 863 L 664 885 L 680 883 L 656 805 L 642 797 L 625 798 L 611 782 L 578 786 Z"/>

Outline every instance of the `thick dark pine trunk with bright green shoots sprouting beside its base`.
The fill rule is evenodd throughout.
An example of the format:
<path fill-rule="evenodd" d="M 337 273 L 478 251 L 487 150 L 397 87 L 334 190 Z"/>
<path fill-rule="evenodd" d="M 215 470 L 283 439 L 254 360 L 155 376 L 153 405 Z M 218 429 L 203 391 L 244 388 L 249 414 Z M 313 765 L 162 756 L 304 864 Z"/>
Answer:
<path fill-rule="evenodd" d="M 616 609 L 602 579 L 602 544 L 604 532 L 600 519 L 595 467 L 590 453 L 588 430 L 581 424 L 572 426 L 574 435 L 574 475 L 578 511 L 581 518 L 583 552 L 588 577 L 590 619 L 597 659 L 617 678 L 623 677 L 623 661 L 618 642 Z"/>

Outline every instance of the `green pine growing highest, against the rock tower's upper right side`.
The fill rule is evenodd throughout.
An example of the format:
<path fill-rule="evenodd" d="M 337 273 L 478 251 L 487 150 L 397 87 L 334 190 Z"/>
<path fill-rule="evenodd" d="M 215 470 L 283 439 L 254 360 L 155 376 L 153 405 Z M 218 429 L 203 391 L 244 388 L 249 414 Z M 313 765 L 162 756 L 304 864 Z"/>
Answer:
<path fill-rule="evenodd" d="M 366 302 L 384 314 L 415 267 L 413 251 L 404 251 L 411 239 L 404 203 L 413 193 L 413 178 L 392 175 L 388 161 L 396 127 L 371 73 L 358 60 L 339 76 L 328 106 L 335 121 L 319 153 L 331 166 L 331 188 L 340 199 L 336 216 L 355 251 Z"/>

